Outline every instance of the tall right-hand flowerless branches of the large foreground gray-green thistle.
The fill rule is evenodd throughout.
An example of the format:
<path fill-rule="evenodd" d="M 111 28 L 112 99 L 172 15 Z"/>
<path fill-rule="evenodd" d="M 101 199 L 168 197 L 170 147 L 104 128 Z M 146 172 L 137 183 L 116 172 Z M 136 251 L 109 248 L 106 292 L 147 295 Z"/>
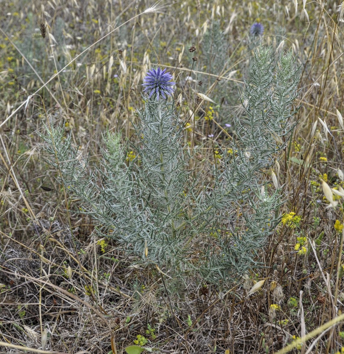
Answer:
<path fill-rule="evenodd" d="M 278 191 L 268 195 L 261 188 L 265 177 L 262 172 L 269 172 L 288 142 L 296 112 L 293 101 L 298 70 L 290 52 L 274 61 L 271 49 L 261 47 L 255 51 L 252 73 L 252 79 L 245 80 L 242 94 L 244 112 L 235 118 L 234 153 L 214 171 L 214 194 L 224 196 L 218 209 L 226 210 L 232 220 L 238 211 L 242 213 L 232 236 L 219 236 L 227 252 L 209 257 L 212 268 L 223 273 L 234 266 L 240 274 L 245 265 L 252 266 L 254 257 L 250 260 L 250 255 L 260 251 L 279 221 L 280 195 Z M 228 247 L 233 243 L 235 247 Z"/>

